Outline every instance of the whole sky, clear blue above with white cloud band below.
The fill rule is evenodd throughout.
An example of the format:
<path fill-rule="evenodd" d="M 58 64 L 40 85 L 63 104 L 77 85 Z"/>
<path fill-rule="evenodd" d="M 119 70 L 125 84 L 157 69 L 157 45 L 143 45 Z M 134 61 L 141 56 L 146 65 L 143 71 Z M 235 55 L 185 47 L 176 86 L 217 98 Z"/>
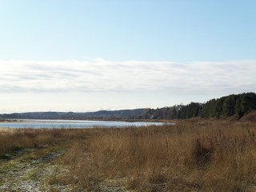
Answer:
<path fill-rule="evenodd" d="M 256 92 L 254 0 L 0 0 L 0 114 Z"/>

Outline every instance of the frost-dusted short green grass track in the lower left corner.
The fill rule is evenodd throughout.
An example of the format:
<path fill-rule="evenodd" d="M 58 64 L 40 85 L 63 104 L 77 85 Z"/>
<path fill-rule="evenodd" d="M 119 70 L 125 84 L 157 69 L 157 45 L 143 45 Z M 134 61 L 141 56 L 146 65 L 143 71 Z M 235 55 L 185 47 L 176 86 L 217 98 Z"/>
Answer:
<path fill-rule="evenodd" d="M 52 175 L 65 174 L 62 166 L 53 163 L 65 153 L 60 146 L 16 151 L 0 160 L 0 191 L 70 191 L 70 186 L 53 181 Z"/>

